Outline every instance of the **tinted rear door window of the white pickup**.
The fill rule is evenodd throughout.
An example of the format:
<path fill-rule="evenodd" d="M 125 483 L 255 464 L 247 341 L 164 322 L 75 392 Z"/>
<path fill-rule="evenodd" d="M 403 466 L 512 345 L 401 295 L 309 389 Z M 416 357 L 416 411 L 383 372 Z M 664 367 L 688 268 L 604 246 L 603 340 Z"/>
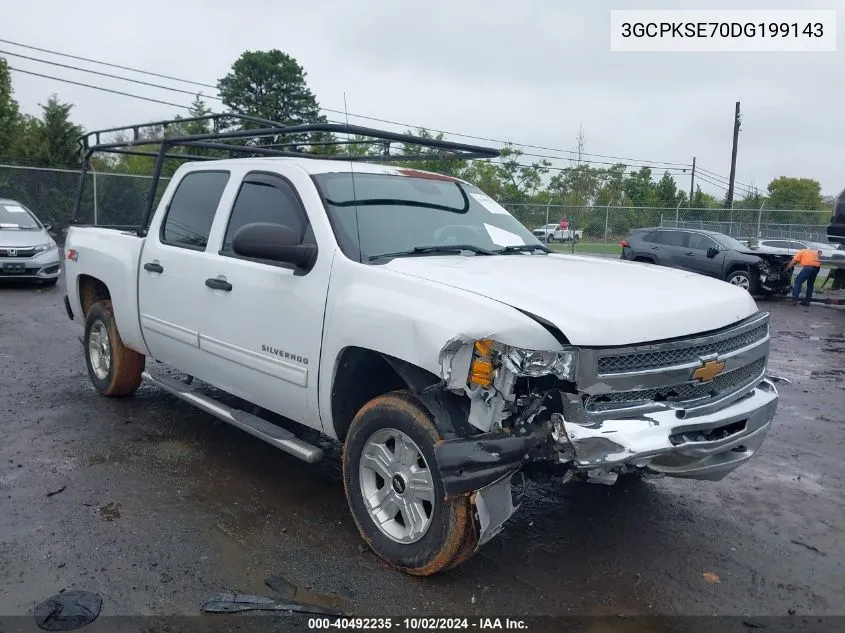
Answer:
<path fill-rule="evenodd" d="M 161 226 L 161 241 L 170 246 L 205 250 L 229 172 L 195 171 L 182 178 Z"/>

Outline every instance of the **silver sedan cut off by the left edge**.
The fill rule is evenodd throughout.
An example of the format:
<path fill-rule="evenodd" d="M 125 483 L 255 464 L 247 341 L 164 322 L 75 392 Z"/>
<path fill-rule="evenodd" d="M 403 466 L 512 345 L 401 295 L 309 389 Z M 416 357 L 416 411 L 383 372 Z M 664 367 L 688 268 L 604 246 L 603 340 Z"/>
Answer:
<path fill-rule="evenodd" d="M 59 280 L 59 247 L 35 214 L 0 198 L 0 281 L 22 279 L 52 286 Z"/>

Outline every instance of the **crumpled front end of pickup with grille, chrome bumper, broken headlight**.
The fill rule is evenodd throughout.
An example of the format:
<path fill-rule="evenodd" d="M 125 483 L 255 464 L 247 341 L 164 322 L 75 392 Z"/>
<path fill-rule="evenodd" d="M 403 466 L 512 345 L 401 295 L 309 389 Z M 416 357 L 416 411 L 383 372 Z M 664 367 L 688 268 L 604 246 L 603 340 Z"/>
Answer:
<path fill-rule="evenodd" d="M 760 447 L 777 407 L 768 314 L 688 338 L 526 350 L 456 337 L 441 382 L 473 434 L 435 446 L 447 496 L 469 495 L 479 547 L 519 507 L 525 478 L 612 484 L 642 472 L 719 480 Z"/>

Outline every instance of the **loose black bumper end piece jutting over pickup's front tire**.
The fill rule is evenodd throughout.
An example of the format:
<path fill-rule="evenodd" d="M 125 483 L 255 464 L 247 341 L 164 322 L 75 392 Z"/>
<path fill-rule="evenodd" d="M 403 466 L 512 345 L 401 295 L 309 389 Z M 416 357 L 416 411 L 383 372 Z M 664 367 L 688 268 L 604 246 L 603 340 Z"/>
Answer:
<path fill-rule="evenodd" d="M 437 469 L 450 497 L 480 490 L 529 461 L 555 455 L 547 430 L 527 435 L 485 433 L 434 445 Z"/>

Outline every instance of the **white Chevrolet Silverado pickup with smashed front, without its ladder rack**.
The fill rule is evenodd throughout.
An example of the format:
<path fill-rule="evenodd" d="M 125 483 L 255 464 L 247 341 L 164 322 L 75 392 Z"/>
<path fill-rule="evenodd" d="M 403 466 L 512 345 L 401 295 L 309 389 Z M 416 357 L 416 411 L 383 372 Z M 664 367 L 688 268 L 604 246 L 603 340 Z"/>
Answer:
<path fill-rule="evenodd" d="M 768 315 L 746 291 L 550 253 L 473 185 L 428 172 L 185 163 L 148 229 L 73 226 L 64 274 L 99 392 L 147 380 L 309 462 L 322 451 L 299 425 L 343 443 L 362 537 L 415 575 L 496 535 L 525 477 L 719 480 L 778 402 Z"/>

